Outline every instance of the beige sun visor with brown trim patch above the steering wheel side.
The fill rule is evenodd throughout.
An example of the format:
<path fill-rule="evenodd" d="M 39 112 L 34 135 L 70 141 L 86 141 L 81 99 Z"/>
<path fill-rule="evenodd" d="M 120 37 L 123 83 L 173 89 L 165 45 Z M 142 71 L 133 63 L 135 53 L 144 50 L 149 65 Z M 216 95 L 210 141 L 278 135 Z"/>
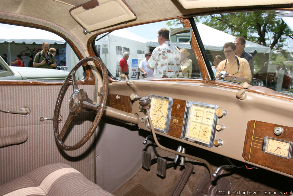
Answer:
<path fill-rule="evenodd" d="M 124 0 L 92 0 L 71 8 L 69 13 L 87 31 L 136 19 Z"/>

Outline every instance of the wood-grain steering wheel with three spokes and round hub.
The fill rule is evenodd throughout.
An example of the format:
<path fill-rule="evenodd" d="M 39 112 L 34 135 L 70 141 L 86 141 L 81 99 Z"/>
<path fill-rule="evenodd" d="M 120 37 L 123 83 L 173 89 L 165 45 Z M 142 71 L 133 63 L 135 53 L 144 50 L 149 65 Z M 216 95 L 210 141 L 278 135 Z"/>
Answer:
<path fill-rule="evenodd" d="M 100 104 L 96 103 L 97 105 L 94 104 L 90 98 L 88 98 L 85 90 L 80 89 L 78 87 L 77 81 L 75 78 L 76 70 L 88 61 L 97 62 L 98 65 L 100 66 L 100 70 L 102 71 L 103 92 L 102 92 Z M 71 78 L 72 78 L 74 92 L 72 93 L 72 95 L 69 99 L 69 105 L 68 105 L 69 106 L 69 115 L 65 121 L 65 124 L 64 124 L 61 132 L 59 133 L 59 131 L 58 131 L 58 115 L 59 115 L 60 106 L 61 106 L 61 102 L 62 102 L 64 93 L 65 93 L 66 87 L 67 87 Z M 89 138 L 93 135 L 94 131 L 96 130 L 96 128 L 102 118 L 103 111 L 104 111 L 105 105 L 106 105 L 107 96 L 108 96 L 108 72 L 107 72 L 107 69 L 106 69 L 103 61 L 95 56 L 89 56 L 89 57 L 86 57 L 86 58 L 82 59 L 81 61 L 79 61 L 76 64 L 76 66 L 69 72 L 68 76 L 66 77 L 66 79 L 65 79 L 65 81 L 59 91 L 59 95 L 57 97 L 57 101 L 56 101 L 56 105 L 55 105 L 55 109 L 54 109 L 54 120 L 53 120 L 54 121 L 53 122 L 54 135 L 55 135 L 55 140 L 56 140 L 57 144 L 60 146 L 60 148 L 62 148 L 63 150 L 76 150 L 76 149 L 80 148 L 81 146 L 83 146 L 89 140 Z M 80 115 L 82 112 L 84 112 L 85 109 L 91 109 L 91 110 L 95 110 L 97 112 L 96 117 L 93 121 L 93 124 L 89 128 L 86 135 L 78 143 L 76 143 L 72 146 L 65 145 L 62 142 L 62 139 L 63 139 L 63 136 L 66 133 L 71 121 L 73 120 L 74 116 Z"/>

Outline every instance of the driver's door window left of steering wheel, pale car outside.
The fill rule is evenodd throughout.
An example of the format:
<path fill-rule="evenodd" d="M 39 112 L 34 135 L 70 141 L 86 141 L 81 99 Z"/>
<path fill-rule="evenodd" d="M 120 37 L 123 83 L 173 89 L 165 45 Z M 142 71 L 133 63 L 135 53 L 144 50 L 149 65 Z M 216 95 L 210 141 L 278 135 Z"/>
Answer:
<path fill-rule="evenodd" d="M 0 74 L 0 80 L 64 80 L 79 62 L 69 44 L 54 33 L 23 26 L 0 26 L 0 71 L 6 73 Z M 84 78 L 82 67 L 76 78 Z"/>

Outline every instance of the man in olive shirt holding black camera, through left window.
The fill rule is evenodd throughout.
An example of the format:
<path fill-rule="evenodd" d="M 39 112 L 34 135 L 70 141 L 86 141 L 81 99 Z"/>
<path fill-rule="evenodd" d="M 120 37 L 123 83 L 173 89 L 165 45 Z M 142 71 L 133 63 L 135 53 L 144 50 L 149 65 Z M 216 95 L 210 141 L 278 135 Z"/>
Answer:
<path fill-rule="evenodd" d="M 43 42 L 43 50 L 36 53 L 33 62 L 34 67 L 52 69 L 57 66 L 56 59 L 52 53 L 48 52 L 50 44 L 48 42 Z"/>

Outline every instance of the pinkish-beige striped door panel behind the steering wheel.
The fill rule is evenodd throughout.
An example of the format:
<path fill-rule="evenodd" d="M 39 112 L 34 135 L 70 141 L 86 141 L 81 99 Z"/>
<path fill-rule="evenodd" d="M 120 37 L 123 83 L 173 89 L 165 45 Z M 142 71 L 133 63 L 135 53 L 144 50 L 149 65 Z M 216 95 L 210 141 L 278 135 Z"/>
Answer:
<path fill-rule="evenodd" d="M 82 88 L 87 91 L 90 98 L 93 98 L 94 86 L 84 85 Z M 0 137 L 16 134 L 20 130 L 28 132 L 28 139 L 25 142 L 0 148 L 0 185 L 51 163 L 67 163 L 94 181 L 93 137 L 82 148 L 64 152 L 54 140 L 53 121 L 40 121 L 40 117 L 53 118 L 59 89 L 60 86 L 43 85 L 0 86 L 1 110 L 19 111 L 24 106 L 30 108 L 30 115 L 26 117 L 0 113 Z M 72 92 L 72 86 L 69 86 L 60 110 L 63 120 L 59 127 L 64 125 L 69 113 L 68 100 Z M 70 145 L 82 138 L 94 117 L 95 113 L 85 112 L 81 117 L 74 118 L 65 143 Z"/>

